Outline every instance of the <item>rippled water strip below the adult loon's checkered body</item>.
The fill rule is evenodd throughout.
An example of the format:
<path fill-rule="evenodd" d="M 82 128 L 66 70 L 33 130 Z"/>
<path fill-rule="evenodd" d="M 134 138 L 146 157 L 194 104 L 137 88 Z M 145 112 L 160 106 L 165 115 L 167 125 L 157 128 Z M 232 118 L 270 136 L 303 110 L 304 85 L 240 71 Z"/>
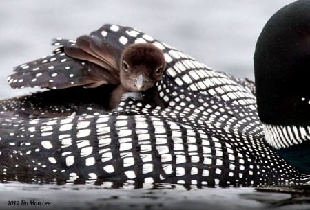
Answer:
<path fill-rule="evenodd" d="M 253 188 L 201 188 L 156 184 L 134 189 L 113 183 L 0 185 L 0 209 L 309 209 L 309 199 Z M 303 202 L 302 202 L 303 201 Z M 308 203 L 307 203 L 308 202 Z M 18 204 L 18 205 L 17 205 Z M 43 205 L 47 204 L 47 205 Z"/>

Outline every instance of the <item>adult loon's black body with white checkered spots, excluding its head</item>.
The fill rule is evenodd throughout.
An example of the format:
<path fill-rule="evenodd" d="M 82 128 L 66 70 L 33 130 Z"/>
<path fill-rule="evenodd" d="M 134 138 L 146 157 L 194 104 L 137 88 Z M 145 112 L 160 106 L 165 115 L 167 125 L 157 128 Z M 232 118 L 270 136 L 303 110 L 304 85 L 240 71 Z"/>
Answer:
<path fill-rule="evenodd" d="M 295 4 L 304 3 L 307 1 Z M 59 62 L 57 75 L 62 77 L 55 78 L 54 83 L 48 82 L 52 73 L 41 65 L 39 69 L 46 76 L 39 74 L 39 83 L 34 80 L 38 78 L 34 71 L 43 60 L 17 67 L 17 73 L 8 79 L 12 86 L 32 86 L 34 80 L 33 85 L 59 90 L 1 101 L 1 174 L 198 186 L 309 181 L 307 174 L 289 165 L 265 139 L 253 84 L 247 80 L 214 71 L 131 27 L 103 25 L 88 38 L 88 43 L 109 46 L 110 55 L 116 58 L 125 49 L 124 43 L 152 43 L 161 49 L 166 71 L 156 90 L 165 106 L 127 97 L 116 110 L 103 110 L 98 97 L 90 93 L 105 87 L 82 87 L 96 83 L 94 74 L 90 76 L 83 68 L 98 60 L 91 62 L 56 52 L 56 60 L 60 56 L 66 60 Z M 101 68 L 101 73 L 108 68 Z M 256 66 L 256 75 L 259 71 Z M 74 76 L 70 77 L 71 73 Z M 102 78 L 97 82 L 102 83 Z M 114 84 L 112 78 L 105 81 Z M 52 95 L 59 97 L 52 100 Z M 39 119 L 30 119 L 28 113 L 36 113 Z M 305 133 L 309 135 L 309 130 Z"/>

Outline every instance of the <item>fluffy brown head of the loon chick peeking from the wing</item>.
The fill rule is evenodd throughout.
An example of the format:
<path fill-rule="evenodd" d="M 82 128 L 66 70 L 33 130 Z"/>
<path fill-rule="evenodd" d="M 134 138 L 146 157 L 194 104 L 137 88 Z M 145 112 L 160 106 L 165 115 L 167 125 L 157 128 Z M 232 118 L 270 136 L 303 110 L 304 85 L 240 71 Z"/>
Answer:
<path fill-rule="evenodd" d="M 163 52 L 155 45 L 150 43 L 129 45 L 121 56 L 121 84 L 127 91 L 146 91 L 161 80 L 165 65 Z"/>

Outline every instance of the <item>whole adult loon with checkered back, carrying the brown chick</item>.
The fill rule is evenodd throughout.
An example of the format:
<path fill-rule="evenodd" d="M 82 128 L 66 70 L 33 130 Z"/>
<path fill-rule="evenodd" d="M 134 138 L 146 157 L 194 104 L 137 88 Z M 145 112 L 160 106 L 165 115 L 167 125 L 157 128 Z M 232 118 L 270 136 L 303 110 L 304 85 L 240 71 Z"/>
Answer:
<path fill-rule="evenodd" d="M 118 81 L 114 70 L 70 57 L 65 47 L 17 67 L 12 87 L 50 90 L 0 102 L 1 174 L 212 187 L 309 182 L 309 8 L 309 1 L 291 3 L 262 30 L 256 88 L 123 25 L 103 25 L 87 45 L 109 47 L 116 57 L 134 43 L 161 49 L 165 73 L 155 87 L 165 106 L 126 97 L 104 110 L 101 97 Z M 97 87 L 83 89 L 88 84 Z"/>

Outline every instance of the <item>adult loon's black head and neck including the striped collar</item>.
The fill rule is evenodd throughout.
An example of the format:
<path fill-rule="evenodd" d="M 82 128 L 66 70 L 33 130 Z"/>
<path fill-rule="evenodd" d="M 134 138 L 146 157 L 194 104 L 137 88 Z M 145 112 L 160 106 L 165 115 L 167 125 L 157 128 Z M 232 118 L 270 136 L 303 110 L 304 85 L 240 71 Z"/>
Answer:
<path fill-rule="evenodd" d="M 258 113 L 265 139 L 300 172 L 310 172 L 310 1 L 278 10 L 254 54 Z"/>

